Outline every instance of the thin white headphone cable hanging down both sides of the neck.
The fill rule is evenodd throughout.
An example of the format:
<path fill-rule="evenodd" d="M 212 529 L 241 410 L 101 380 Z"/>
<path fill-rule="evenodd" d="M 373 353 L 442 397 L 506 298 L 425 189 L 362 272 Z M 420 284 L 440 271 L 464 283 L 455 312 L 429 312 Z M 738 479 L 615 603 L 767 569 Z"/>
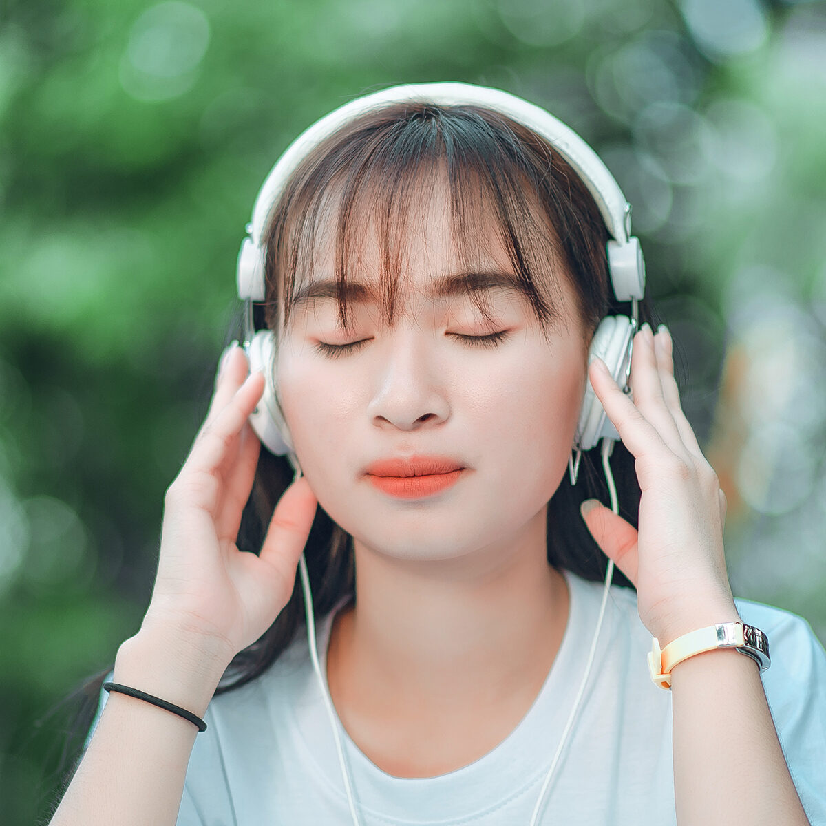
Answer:
<path fill-rule="evenodd" d="M 612 439 L 602 439 L 600 453 L 602 456 L 602 467 L 605 470 L 605 479 L 608 482 L 608 490 L 611 499 L 611 510 L 613 510 L 615 514 L 618 514 L 619 504 L 617 501 L 617 492 L 614 484 L 614 477 L 611 475 L 610 463 L 608 462 L 608 458 L 610 457 L 610 454 L 613 452 L 613 450 L 614 441 Z M 300 472 L 296 472 L 295 478 L 297 479 L 300 475 Z M 301 553 L 301 559 L 299 559 L 298 561 L 298 566 L 301 572 L 301 587 L 304 590 L 304 608 L 306 612 L 307 642 L 309 643 L 310 647 L 310 658 L 312 661 L 312 667 L 313 670 L 316 672 L 316 678 L 318 679 L 318 684 L 321 689 L 321 695 L 324 698 L 324 704 L 327 710 L 327 715 L 330 718 L 330 725 L 333 729 L 333 735 L 335 737 L 335 749 L 339 755 L 339 766 L 341 767 L 341 775 L 344 778 L 344 790 L 347 792 L 347 803 L 350 809 L 350 817 L 353 819 L 354 826 L 361 826 L 358 820 L 358 814 L 356 814 L 352 781 L 350 779 L 347 762 L 344 757 L 344 748 L 342 748 L 341 745 L 341 737 L 339 734 L 339 721 L 335 715 L 335 709 L 333 708 L 333 700 L 330 698 L 330 692 L 328 691 L 327 686 L 325 685 L 324 677 L 321 675 L 321 667 L 318 658 L 318 648 L 316 648 L 316 622 L 314 619 L 314 610 L 312 606 L 310 577 L 307 573 L 306 559 L 304 558 L 303 553 Z M 577 692 L 577 699 L 574 700 L 571 714 L 568 715 L 567 723 L 565 724 L 565 729 L 563 730 L 563 736 L 560 739 L 559 745 L 557 747 L 557 752 L 556 754 L 554 754 L 553 762 L 551 762 L 551 767 L 548 769 L 548 773 L 545 775 L 542 789 L 539 792 L 539 800 L 536 801 L 536 805 L 534 806 L 534 814 L 531 816 L 530 819 L 530 826 L 537 826 L 537 824 L 539 823 L 538 818 L 539 811 L 542 807 L 542 802 L 544 800 L 546 792 L 548 791 L 548 786 L 550 784 L 551 778 L 553 777 L 553 772 L 556 770 L 556 767 L 558 766 L 559 757 L 562 754 L 563 746 L 567 741 L 568 735 L 571 733 L 574 717 L 577 714 L 577 709 L 579 708 L 579 705 L 582 702 L 582 697 L 585 693 L 586 682 L 588 681 L 588 676 L 591 674 L 591 666 L 593 665 L 594 656 L 596 654 L 596 643 L 600 636 L 602 620 L 605 617 L 605 605 L 608 601 L 610 583 L 613 576 L 614 560 L 610 559 L 608 561 L 608 567 L 605 571 L 605 588 L 602 591 L 600 615 L 596 620 L 596 632 L 594 634 L 593 640 L 591 641 L 591 651 L 588 653 L 588 662 L 586 663 L 585 674 L 582 676 L 579 691 Z"/>

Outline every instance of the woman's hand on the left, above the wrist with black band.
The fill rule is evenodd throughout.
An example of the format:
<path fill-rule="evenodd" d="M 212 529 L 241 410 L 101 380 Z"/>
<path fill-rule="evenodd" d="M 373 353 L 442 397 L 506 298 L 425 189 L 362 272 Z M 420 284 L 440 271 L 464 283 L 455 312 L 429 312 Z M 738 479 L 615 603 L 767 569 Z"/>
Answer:
<path fill-rule="evenodd" d="M 287 605 L 316 514 L 305 477 L 278 501 L 259 555 L 235 544 L 261 443 L 247 421 L 264 387 L 235 345 L 216 377 L 207 418 L 164 499 L 158 574 L 145 627 L 194 634 L 227 663 Z"/>

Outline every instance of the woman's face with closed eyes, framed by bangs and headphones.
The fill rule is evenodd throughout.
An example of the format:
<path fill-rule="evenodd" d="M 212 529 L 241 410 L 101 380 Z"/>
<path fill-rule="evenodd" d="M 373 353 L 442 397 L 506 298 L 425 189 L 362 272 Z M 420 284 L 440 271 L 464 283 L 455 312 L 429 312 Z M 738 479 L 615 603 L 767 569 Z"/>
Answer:
<path fill-rule="evenodd" d="M 432 197 L 430 197 L 432 192 Z M 301 468 L 320 506 L 357 542 L 396 558 L 446 559 L 507 542 L 543 510 L 567 467 L 586 382 L 586 340 L 572 287 L 549 263 L 560 319 L 545 335 L 527 297 L 486 292 L 492 323 L 464 292 L 434 297 L 437 280 L 467 272 L 453 248 L 449 197 L 437 180 L 408 232 L 396 316 L 352 304 L 340 326 L 335 297 L 295 306 L 278 349 L 279 395 Z M 500 230 L 482 216 L 487 249 L 474 271 L 514 273 Z M 330 235 L 313 272 L 334 273 Z M 350 282 L 378 286 L 379 253 L 361 239 Z M 301 284 L 301 280 L 298 281 Z M 506 331 L 492 346 L 458 335 Z M 319 343 L 348 344 L 325 354 Z M 437 455 L 465 468 L 451 487 L 402 499 L 365 473 L 378 459 Z"/>

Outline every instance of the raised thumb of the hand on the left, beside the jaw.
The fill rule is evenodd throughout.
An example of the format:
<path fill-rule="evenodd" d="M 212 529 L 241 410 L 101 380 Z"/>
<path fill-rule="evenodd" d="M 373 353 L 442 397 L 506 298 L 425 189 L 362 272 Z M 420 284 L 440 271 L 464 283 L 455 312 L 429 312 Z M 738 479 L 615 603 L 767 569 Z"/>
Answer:
<path fill-rule="evenodd" d="M 298 558 L 310 535 L 318 500 L 306 477 L 298 477 L 284 491 L 273 511 L 259 558 L 267 563 L 269 585 L 286 603 L 296 578 Z"/>

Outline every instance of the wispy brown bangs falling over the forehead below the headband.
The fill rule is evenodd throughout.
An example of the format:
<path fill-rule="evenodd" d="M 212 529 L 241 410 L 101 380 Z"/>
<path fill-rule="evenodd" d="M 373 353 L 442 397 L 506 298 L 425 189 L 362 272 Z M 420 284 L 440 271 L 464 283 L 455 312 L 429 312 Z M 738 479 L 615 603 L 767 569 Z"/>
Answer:
<path fill-rule="evenodd" d="M 487 230 L 494 221 L 515 286 L 541 328 L 564 323 L 558 279 L 572 279 L 571 255 L 553 221 L 555 210 L 548 211 L 552 164 L 544 141 L 478 107 L 393 104 L 359 117 L 306 156 L 270 216 L 264 239 L 268 327 L 278 330 L 279 311 L 287 327 L 297 288 L 315 272 L 321 245 L 331 244 L 334 273 L 327 277 L 335 278 L 339 319 L 349 328 L 348 285 L 367 238 L 378 243 L 376 287 L 382 315 L 392 323 L 407 287 L 401 273 L 409 235 L 439 176 L 449 186 L 453 244 L 463 268 L 479 266 L 480 252 L 494 243 Z M 596 314 L 582 311 L 581 290 L 574 286 L 587 326 Z M 468 295 L 489 320 L 487 295 Z"/>

